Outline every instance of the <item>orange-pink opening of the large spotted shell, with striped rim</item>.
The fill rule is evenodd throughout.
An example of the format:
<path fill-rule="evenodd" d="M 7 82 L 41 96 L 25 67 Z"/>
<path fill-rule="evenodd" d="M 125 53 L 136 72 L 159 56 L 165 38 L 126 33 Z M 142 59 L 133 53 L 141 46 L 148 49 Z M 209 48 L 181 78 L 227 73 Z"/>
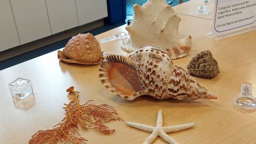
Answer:
<path fill-rule="evenodd" d="M 123 63 L 111 63 L 103 60 L 99 71 L 101 83 L 121 97 L 132 97 L 134 93 L 144 90 L 141 88 L 137 72 Z"/>

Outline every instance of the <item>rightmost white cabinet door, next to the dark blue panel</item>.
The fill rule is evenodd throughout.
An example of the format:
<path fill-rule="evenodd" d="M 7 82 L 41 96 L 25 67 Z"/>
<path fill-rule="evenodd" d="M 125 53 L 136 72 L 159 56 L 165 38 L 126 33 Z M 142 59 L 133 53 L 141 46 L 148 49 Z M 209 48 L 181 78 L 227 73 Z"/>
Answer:
<path fill-rule="evenodd" d="M 107 0 L 76 0 L 79 26 L 108 17 Z"/>

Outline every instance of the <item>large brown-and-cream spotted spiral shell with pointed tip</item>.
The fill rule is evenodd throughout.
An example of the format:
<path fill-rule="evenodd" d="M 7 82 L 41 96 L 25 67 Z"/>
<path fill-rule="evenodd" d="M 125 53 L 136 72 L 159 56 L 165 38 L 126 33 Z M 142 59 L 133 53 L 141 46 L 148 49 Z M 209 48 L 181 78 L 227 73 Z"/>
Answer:
<path fill-rule="evenodd" d="M 106 55 L 100 63 L 99 78 L 109 91 L 127 100 L 141 95 L 156 99 L 217 99 L 157 47 L 143 47 L 126 56 Z"/>

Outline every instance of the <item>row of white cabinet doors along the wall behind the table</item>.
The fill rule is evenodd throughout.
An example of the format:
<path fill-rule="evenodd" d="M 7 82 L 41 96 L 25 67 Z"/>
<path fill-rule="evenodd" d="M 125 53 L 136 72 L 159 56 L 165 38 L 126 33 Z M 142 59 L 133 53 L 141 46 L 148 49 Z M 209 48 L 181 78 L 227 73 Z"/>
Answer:
<path fill-rule="evenodd" d="M 108 16 L 107 0 L 0 1 L 0 52 Z"/>

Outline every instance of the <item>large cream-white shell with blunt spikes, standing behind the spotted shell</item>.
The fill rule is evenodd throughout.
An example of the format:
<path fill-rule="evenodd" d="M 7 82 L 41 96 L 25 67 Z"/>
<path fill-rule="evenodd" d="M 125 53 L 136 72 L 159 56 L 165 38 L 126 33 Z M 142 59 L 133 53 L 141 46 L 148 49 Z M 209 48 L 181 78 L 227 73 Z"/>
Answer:
<path fill-rule="evenodd" d="M 165 49 L 171 59 L 185 57 L 191 48 L 191 36 L 179 39 L 180 17 L 165 0 L 148 0 L 142 6 L 135 4 L 134 20 L 126 30 L 130 39 L 121 42 L 131 52 L 134 47 L 154 46 Z"/>

